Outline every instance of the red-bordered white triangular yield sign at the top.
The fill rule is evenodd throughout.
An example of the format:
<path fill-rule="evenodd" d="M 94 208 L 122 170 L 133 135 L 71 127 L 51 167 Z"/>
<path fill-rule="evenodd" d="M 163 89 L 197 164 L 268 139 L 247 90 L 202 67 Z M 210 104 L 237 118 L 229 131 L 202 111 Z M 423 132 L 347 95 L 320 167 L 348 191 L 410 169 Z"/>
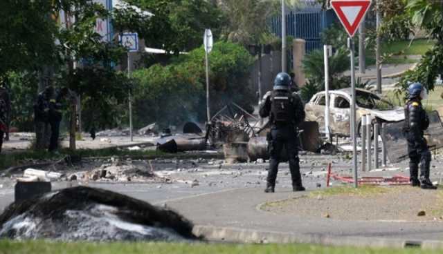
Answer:
<path fill-rule="evenodd" d="M 332 8 L 352 38 L 368 12 L 371 0 L 332 0 Z"/>

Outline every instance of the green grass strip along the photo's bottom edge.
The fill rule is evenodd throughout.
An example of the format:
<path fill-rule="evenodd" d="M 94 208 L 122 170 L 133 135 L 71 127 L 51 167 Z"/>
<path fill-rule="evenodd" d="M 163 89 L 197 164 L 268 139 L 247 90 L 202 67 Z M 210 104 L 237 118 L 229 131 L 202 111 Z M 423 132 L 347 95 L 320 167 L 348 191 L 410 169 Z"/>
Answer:
<path fill-rule="evenodd" d="M 224 253 L 224 254 L 280 254 L 280 253 L 328 253 L 328 254 L 397 254 L 397 253 L 441 253 L 438 250 L 422 250 L 419 248 L 360 248 L 335 247 L 312 244 L 166 244 L 166 243 L 60 243 L 60 242 L 12 242 L 0 241 L 0 254 L 39 253 L 39 254 L 172 254 L 172 253 Z"/>

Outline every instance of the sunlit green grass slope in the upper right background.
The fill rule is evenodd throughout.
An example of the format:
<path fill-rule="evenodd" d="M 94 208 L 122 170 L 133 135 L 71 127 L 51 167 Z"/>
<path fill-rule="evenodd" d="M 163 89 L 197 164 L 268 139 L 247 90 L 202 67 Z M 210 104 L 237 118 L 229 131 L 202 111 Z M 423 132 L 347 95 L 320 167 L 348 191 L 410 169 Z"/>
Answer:
<path fill-rule="evenodd" d="M 424 55 L 426 51 L 435 45 L 435 42 L 428 39 L 415 39 L 411 44 L 410 41 L 393 41 L 391 43 L 383 43 L 381 52 L 382 54 L 393 55 Z"/>

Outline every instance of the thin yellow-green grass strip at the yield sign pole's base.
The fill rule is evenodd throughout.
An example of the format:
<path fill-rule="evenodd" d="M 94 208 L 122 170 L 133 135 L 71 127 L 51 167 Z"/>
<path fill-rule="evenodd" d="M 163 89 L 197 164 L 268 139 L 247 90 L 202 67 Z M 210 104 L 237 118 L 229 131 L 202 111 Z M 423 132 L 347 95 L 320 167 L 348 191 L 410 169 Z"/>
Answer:
<path fill-rule="evenodd" d="M 309 193 L 309 197 L 318 197 L 321 195 L 323 197 L 333 196 L 333 195 L 358 195 L 358 196 L 370 196 L 388 193 L 393 188 L 386 188 L 381 186 L 370 186 L 370 185 L 361 185 L 359 188 L 354 188 L 351 186 L 337 186 L 332 188 L 325 188 L 323 190 L 316 190 Z"/>

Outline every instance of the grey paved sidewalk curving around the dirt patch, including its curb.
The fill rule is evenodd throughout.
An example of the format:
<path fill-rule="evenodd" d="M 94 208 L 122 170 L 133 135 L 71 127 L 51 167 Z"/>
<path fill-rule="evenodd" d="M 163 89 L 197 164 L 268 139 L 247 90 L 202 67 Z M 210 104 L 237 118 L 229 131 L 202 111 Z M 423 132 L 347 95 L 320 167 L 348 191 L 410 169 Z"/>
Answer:
<path fill-rule="evenodd" d="M 165 204 L 191 219 L 196 225 L 196 233 L 204 233 L 209 240 L 397 247 L 412 241 L 420 246 L 443 246 L 440 242 L 432 242 L 443 238 L 441 222 L 306 219 L 293 215 L 275 215 L 258 209 L 265 202 L 306 194 L 278 189 L 277 193 L 265 195 L 257 188 L 243 188 L 183 198 Z"/>

